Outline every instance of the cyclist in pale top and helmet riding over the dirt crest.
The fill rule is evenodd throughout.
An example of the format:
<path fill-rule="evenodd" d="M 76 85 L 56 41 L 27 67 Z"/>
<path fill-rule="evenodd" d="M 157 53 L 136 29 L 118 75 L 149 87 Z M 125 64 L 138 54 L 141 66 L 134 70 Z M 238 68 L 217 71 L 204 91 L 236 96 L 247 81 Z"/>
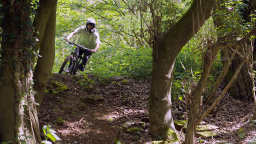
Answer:
<path fill-rule="evenodd" d="M 95 26 L 96 21 L 90 18 L 86 21 L 86 26 L 75 29 L 74 32 L 70 33 L 65 39 L 67 42 L 69 42 L 69 39 L 71 39 L 73 35 L 78 34 L 78 44 L 91 50 L 88 51 L 79 49 L 79 56 L 82 56 L 84 54 L 82 64 L 79 65 L 80 71 L 84 71 L 88 59 L 90 58 L 92 53 L 98 50 L 101 44 L 100 35 L 98 34 Z"/>

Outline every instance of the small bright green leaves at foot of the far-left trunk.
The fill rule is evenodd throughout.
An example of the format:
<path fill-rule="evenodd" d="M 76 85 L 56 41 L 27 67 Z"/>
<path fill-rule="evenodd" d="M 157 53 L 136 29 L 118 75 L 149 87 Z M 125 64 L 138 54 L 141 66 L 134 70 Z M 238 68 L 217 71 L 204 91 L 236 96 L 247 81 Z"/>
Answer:
<path fill-rule="evenodd" d="M 51 129 L 50 125 L 44 125 L 43 126 L 43 132 L 44 132 L 44 141 L 42 141 L 42 143 L 44 144 L 50 144 L 51 142 L 48 141 L 49 139 L 53 142 L 55 141 L 60 141 L 60 137 L 56 135 L 56 131 Z"/>

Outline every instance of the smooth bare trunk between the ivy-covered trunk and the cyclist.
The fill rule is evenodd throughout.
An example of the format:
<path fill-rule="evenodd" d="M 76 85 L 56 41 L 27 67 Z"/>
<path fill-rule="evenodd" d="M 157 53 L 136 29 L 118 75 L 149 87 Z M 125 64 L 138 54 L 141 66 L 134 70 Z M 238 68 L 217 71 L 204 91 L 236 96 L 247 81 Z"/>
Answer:
<path fill-rule="evenodd" d="M 56 6 L 55 1 L 39 1 L 40 8 L 38 9 L 38 17 L 34 20 L 34 26 L 36 27 L 36 33 L 39 41 L 34 47 L 34 50 L 38 50 L 40 45 L 36 69 L 34 70 L 34 90 L 37 92 L 35 95 L 37 111 L 42 103 L 44 97 L 44 91 L 53 70 L 54 57 L 55 57 L 55 25 L 56 25 Z M 38 32 L 37 32 L 38 30 Z"/>

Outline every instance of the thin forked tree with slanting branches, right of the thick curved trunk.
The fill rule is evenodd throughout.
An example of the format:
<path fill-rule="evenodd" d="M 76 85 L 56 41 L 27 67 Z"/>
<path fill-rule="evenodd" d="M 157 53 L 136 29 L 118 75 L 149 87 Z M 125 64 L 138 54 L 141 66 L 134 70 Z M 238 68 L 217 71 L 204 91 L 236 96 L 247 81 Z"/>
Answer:
<path fill-rule="evenodd" d="M 226 93 L 226 91 L 229 89 L 229 87 L 232 85 L 232 83 L 236 80 L 236 77 L 240 73 L 240 70 L 245 63 L 249 52 L 251 52 L 251 49 L 247 49 L 245 55 L 241 56 L 242 62 L 240 63 L 238 69 L 235 71 L 235 75 L 232 76 L 231 81 L 228 83 L 228 86 L 225 87 L 224 91 L 222 92 L 222 94 L 220 94 L 218 99 L 216 101 L 214 101 L 211 108 L 208 109 L 206 112 L 204 112 L 203 116 L 201 116 L 201 103 L 202 103 L 201 95 L 203 92 L 203 88 L 205 88 L 206 81 L 210 75 L 211 67 L 214 62 L 214 59 L 217 56 L 218 51 L 220 49 L 224 49 L 227 47 L 240 46 L 243 43 L 245 43 L 245 41 L 251 35 L 253 35 L 255 33 L 256 33 L 256 29 L 254 28 L 249 34 L 247 34 L 241 40 L 229 41 L 229 42 L 217 42 L 217 43 L 213 44 L 213 46 L 210 47 L 210 49 L 208 49 L 206 51 L 205 64 L 203 65 L 203 72 L 201 75 L 201 79 L 200 79 L 199 83 L 196 85 L 196 87 L 192 89 L 191 96 L 190 96 L 191 97 L 190 101 L 189 101 L 190 102 L 189 103 L 190 110 L 189 110 L 188 128 L 186 131 L 185 142 L 184 142 L 185 144 L 194 143 L 194 133 L 195 133 L 197 125 L 200 123 L 202 118 L 204 118 L 208 114 L 208 112 L 210 112 L 213 109 L 213 105 L 214 106 L 217 105 L 219 100 L 223 97 L 223 95 Z M 234 55 L 232 55 L 232 56 L 234 56 Z M 229 65 L 226 65 L 226 67 L 228 67 L 228 66 Z M 220 77 L 222 77 L 222 76 L 220 75 Z"/>

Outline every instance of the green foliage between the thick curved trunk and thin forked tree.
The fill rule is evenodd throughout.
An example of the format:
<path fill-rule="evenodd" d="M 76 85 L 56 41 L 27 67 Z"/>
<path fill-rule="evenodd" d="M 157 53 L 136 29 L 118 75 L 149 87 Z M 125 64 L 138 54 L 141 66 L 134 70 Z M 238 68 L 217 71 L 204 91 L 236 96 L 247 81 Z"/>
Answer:
<path fill-rule="evenodd" d="M 184 97 L 191 90 L 192 82 L 195 81 L 197 83 L 200 80 L 205 51 L 209 45 L 215 43 L 217 40 L 216 33 L 213 30 L 213 19 L 209 19 L 179 53 L 174 65 L 172 99 L 178 98 L 184 100 Z M 216 80 L 222 68 L 222 61 L 220 55 L 218 55 L 213 63 L 212 72 L 206 83 L 204 95 L 209 93 L 209 89 L 211 89 L 214 80 Z M 193 77 L 191 71 L 193 71 Z"/>

